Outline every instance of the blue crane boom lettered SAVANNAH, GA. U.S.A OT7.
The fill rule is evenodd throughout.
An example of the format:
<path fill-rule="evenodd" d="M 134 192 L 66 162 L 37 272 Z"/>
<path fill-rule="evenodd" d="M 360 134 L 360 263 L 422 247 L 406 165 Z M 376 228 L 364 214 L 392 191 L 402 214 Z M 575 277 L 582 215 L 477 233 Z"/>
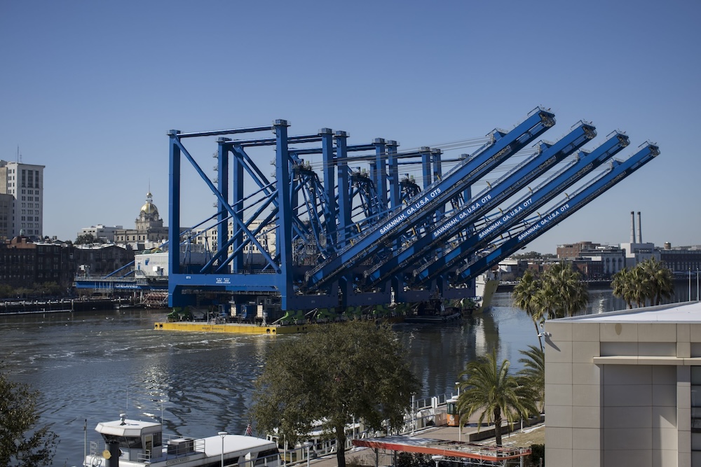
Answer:
<path fill-rule="evenodd" d="M 557 194 L 562 193 L 563 190 L 622 151 L 628 144 L 629 139 L 625 134 L 614 132 L 613 136 L 591 153 L 580 152 L 580 157 L 576 162 L 504 209 L 496 221 L 487 223 L 483 228 L 476 230 L 474 235 L 463 239 L 443 256 L 430 258 L 428 262 L 416 267 L 413 274 L 409 274 L 407 284 L 424 284 L 434 277 L 445 274 L 454 268 L 456 263 L 475 254 L 476 251 L 486 248 L 489 242 L 515 227 L 526 216 L 543 207 Z"/>

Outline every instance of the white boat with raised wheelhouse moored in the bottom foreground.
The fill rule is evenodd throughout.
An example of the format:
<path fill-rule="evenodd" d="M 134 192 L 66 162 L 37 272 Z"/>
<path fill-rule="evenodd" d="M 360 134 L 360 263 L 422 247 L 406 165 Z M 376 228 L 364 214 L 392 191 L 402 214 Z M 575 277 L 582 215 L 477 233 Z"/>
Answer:
<path fill-rule="evenodd" d="M 90 442 L 86 467 L 254 467 L 280 466 L 275 442 L 220 432 L 208 438 L 163 435 L 154 421 L 129 420 L 125 414 L 95 427 L 102 442 Z M 102 449 L 100 449 L 102 448 Z"/>

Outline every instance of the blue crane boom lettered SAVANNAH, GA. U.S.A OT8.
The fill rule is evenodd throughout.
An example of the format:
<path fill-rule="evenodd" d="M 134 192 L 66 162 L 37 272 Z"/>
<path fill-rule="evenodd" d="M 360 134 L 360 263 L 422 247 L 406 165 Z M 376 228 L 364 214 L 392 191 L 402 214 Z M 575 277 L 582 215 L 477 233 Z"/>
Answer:
<path fill-rule="evenodd" d="M 643 167 L 659 154 L 660 148 L 655 144 L 648 143 L 627 160 L 623 162 L 614 160 L 608 172 L 601 174 L 597 179 L 580 188 L 564 203 L 527 225 L 518 234 L 505 240 L 494 251 L 490 251 L 481 258 L 475 258 L 468 265 L 461 267 L 456 272 L 456 283 L 475 279 L 482 272 L 489 270 L 490 267 L 497 265 L 501 260 L 518 251 L 522 246 L 543 235 L 557 223 L 564 221 L 564 219 L 583 208 L 588 202 L 594 200 L 594 198 L 622 181 L 622 179 L 625 179 L 640 167 Z"/>

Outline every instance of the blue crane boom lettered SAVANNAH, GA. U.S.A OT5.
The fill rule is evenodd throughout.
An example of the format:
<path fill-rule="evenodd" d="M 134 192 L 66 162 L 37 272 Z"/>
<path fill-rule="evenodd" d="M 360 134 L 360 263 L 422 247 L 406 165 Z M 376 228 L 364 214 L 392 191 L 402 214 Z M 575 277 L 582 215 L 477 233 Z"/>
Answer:
<path fill-rule="evenodd" d="M 506 134 L 495 130 L 494 144 L 485 148 L 476 157 L 479 160 L 484 160 L 482 166 L 491 166 L 491 160 L 503 160 L 508 155 L 516 153 L 552 125 L 554 125 L 554 115 L 538 108 L 514 130 Z M 381 222 L 376 227 L 369 229 L 364 235 L 356 238 L 353 244 L 339 250 L 336 256 L 329 258 L 308 272 L 306 274 L 308 288 L 313 290 L 318 288 L 322 281 L 328 282 L 338 278 L 346 272 L 348 267 L 369 258 L 383 244 L 393 242 L 402 235 L 402 232 L 426 220 L 437 207 L 449 202 L 452 197 L 463 190 L 465 185 L 463 179 L 475 171 L 474 165 L 470 164 L 473 160 L 475 158 L 465 160 L 463 164 L 457 165 L 446 174 L 444 179 L 433 183 L 424 190 L 414 204 L 404 207 L 398 214 L 388 216 L 388 221 Z"/>

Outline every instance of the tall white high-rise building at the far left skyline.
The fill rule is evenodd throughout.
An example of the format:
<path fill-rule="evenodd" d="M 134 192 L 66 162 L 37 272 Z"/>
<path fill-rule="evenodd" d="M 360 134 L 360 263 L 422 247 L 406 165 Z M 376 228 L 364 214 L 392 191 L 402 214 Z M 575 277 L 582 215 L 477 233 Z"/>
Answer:
<path fill-rule="evenodd" d="M 0 160 L 0 193 L 12 195 L 8 237 L 43 237 L 43 165 Z"/>

